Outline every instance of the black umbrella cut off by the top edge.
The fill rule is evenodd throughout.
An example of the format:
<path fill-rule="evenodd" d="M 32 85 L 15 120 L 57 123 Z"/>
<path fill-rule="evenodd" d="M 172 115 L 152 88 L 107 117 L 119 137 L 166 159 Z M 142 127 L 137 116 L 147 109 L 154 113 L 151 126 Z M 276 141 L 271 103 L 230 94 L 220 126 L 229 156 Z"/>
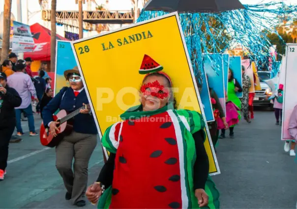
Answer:
<path fill-rule="evenodd" d="M 178 13 L 214 13 L 244 9 L 244 6 L 239 0 L 149 0 L 144 9 Z"/>

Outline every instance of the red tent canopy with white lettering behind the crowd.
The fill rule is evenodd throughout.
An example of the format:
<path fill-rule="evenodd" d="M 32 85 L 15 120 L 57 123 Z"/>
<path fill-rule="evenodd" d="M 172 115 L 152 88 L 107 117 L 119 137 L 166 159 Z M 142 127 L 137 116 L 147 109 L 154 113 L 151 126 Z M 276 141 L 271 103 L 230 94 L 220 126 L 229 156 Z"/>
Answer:
<path fill-rule="evenodd" d="M 30 26 L 31 33 L 34 39 L 33 52 L 25 52 L 24 58 L 31 57 L 32 60 L 51 60 L 51 30 L 38 23 Z M 57 35 L 58 40 L 67 40 L 66 38 Z"/>

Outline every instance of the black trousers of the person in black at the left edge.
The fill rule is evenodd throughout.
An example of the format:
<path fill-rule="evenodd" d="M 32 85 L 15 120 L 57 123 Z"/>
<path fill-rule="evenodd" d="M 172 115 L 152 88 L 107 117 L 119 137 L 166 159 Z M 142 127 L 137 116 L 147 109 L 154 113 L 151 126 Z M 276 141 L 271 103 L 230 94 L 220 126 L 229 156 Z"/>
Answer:
<path fill-rule="evenodd" d="M 8 146 L 9 140 L 15 129 L 15 124 L 11 124 L 9 127 L 0 127 L 0 169 L 5 170 L 7 167 L 8 158 Z"/>

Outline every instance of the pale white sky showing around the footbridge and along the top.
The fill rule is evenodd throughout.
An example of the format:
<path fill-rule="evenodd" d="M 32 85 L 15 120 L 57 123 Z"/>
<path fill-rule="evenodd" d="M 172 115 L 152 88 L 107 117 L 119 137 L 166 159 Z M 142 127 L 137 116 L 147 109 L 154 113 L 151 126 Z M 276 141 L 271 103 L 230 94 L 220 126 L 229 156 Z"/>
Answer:
<path fill-rule="evenodd" d="M 22 16 L 23 16 L 23 23 L 26 23 L 26 13 L 25 10 L 27 8 L 26 5 L 27 0 L 21 0 L 22 2 Z M 49 7 L 51 0 L 49 1 Z M 96 0 L 97 4 L 105 4 L 106 0 Z M 142 7 L 142 0 L 139 0 L 139 6 Z M 275 1 L 282 1 L 282 0 L 275 0 Z M 297 4 L 297 0 L 284 0 L 288 4 Z M 67 2 L 67 3 L 65 3 Z M 242 4 L 256 4 L 262 2 L 262 0 L 240 0 Z M 264 0 L 264 2 L 269 2 L 269 0 Z M 30 16 L 29 19 L 29 25 L 33 25 L 34 23 L 39 23 L 43 25 L 43 21 L 41 20 L 41 7 L 38 3 L 38 0 L 28 0 L 29 5 L 29 11 L 32 13 L 34 12 L 34 15 Z M 109 0 L 109 4 L 107 6 L 107 9 L 109 10 L 131 10 L 132 3 L 131 0 Z M 0 0 L 0 13 L 4 9 L 4 0 Z M 50 8 L 49 8 L 50 9 Z M 83 5 L 83 9 L 87 10 L 87 4 Z M 95 9 L 95 4 L 92 4 L 92 9 Z M 78 5 L 75 4 L 75 0 L 57 0 L 57 10 L 78 10 Z M 12 14 L 17 18 L 17 0 L 12 0 Z M 48 26 L 50 26 L 50 23 L 48 23 Z M 57 33 L 59 35 L 64 36 L 63 34 L 64 27 L 58 26 L 57 27 Z M 76 31 L 73 31 L 76 32 Z M 84 36 L 93 35 L 90 33 L 85 33 Z"/>

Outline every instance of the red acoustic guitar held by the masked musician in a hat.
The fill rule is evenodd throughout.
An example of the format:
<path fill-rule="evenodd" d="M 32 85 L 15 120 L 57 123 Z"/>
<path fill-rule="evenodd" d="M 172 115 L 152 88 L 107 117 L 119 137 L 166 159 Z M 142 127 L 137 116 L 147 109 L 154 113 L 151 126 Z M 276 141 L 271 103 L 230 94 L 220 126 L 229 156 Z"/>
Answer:
<path fill-rule="evenodd" d="M 54 121 L 59 122 L 59 132 L 57 131 L 57 136 L 53 136 L 49 128 L 45 128 L 43 122 L 40 126 L 40 142 L 43 146 L 56 147 L 64 136 L 71 133 L 73 129 L 72 119 L 74 116 L 80 113 L 81 109 L 89 109 L 89 104 L 82 106 L 81 108 L 67 114 L 65 110 L 60 110 L 57 115 L 53 115 Z M 67 122 L 68 121 L 68 122 Z"/>

